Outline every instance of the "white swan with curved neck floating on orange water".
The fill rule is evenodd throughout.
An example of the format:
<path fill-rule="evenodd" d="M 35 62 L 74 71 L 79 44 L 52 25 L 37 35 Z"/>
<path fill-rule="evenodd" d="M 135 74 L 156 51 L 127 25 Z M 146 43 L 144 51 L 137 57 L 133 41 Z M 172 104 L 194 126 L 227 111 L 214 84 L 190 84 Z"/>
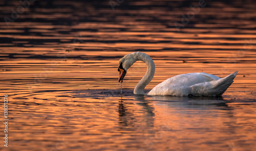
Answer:
<path fill-rule="evenodd" d="M 147 64 L 147 71 L 134 89 L 134 94 L 136 95 L 221 96 L 231 85 L 234 77 L 236 77 L 238 73 L 238 71 L 236 71 L 224 78 L 219 78 L 218 76 L 204 72 L 181 74 L 166 79 L 145 94 L 144 89 L 155 74 L 155 63 L 153 59 L 145 53 L 130 53 L 119 60 L 118 82 L 123 82 L 127 70 L 137 60 L 141 60 Z"/>

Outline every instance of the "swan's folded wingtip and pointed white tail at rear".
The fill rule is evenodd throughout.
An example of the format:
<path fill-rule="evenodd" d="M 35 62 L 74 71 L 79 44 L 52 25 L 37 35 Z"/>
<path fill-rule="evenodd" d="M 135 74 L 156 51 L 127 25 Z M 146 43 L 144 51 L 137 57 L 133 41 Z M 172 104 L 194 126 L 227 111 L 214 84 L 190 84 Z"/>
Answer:
<path fill-rule="evenodd" d="M 234 77 L 237 76 L 238 71 L 231 73 L 230 75 L 221 78 L 219 80 L 212 80 L 210 82 L 204 82 L 192 85 L 192 95 L 205 95 L 205 96 L 221 96 L 227 88 L 233 83 Z"/>

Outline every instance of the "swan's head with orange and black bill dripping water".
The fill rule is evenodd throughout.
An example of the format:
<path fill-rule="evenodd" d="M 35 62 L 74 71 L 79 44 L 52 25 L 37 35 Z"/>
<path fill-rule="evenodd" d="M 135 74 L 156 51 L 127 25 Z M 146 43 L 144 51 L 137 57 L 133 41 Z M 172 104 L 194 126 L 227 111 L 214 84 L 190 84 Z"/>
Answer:
<path fill-rule="evenodd" d="M 121 82 L 121 83 L 123 82 L 123 78 L 124 78 L 127 70 L 133 65 L 134 62 L 137 61 L 136 54 L 137 54 L 137 52 L 127 54 L 119 60 L 119 65 L 118 65 L 119 78 L 118 78 L 118 82 Z"/>

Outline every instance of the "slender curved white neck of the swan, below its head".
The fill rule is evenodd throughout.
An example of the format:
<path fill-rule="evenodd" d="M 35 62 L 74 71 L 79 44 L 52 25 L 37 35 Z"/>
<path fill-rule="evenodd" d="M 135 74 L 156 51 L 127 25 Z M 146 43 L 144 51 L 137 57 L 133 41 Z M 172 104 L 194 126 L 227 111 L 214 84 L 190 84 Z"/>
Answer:
<path fill-rule="evenodd" d="M 134 94 L 145 95 L 144 89 L 145 89 L 146 85 L 148 83 L 150 83 L 150 81 L 153 79 L 154 74 L 155 74 L 155 63 L 150 56 L 148 56 L 147 54 L 144 54 L 144 53 L 139 53 L 136 57 L 137 57 L 136 58 L 137 60 L 141 60 L 146 63 L 147 71 L 146 71 L 146 74 L 144 75 L 144 77 L 136 85 L 136 87 L 134 89 Z"/>

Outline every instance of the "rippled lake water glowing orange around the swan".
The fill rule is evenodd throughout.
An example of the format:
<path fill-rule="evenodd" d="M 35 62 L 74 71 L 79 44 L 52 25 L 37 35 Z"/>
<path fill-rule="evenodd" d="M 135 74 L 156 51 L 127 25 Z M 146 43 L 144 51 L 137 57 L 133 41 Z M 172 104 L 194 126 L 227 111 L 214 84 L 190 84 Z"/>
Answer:
<path fill-rule="evenodd" d="M 254 150 L 256 4 L 206 1 L 178 31 L 197 1 L 118 2 L 36 1 L 0 23 L 9 118 L 0 149 Z M 20 3 L 0 5 L 11 18 Z M 146 65 L 136 62 L 121 90 L 117 71 L 134 51 L 156 64 L 146 92 L 178 74 L 239 73 L 222 97 L 136 96 Z"/>

